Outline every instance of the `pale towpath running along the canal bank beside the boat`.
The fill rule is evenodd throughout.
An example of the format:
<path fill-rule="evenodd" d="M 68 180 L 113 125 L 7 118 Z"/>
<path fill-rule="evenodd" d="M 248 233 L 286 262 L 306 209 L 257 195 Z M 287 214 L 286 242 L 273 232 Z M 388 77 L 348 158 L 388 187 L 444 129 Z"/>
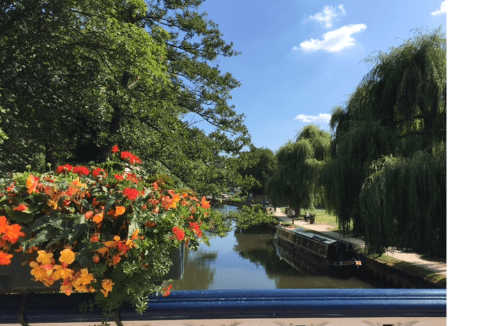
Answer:
<path fill-rule="evenodd" d="M 278 221 L 281 221 L 283 223 L 292 223 L 292 218 L 287 216 L 287 214 L 283 213 L 280 211 L 280 209 L 276 209 L 276 212 L 274 212 L 274 215 L 278 218 Z M 328 237 L 333 237 L 336 239 L 344 239 L 347 242 L 351 242 L 353 246 L 365 246 L 365 241 L 362 239 L 356 239 L 353 237 L 344 237 L 341 233 L 333 231 L 333 226 L 328 225 L 328 224 L 320 224 L 320 223 L 315 223 L 310 224 L 309 222 L 303 221 L 303 219 L 296 219 L 294 221 L 294 225 L 300 226 L 302 228 L 314 230 L 317 232 L 323 232 L 325 235 Z M 393 250 L 393 251 L 386 251 L 386 255 L 389 255 L 392 258 L 395 258 L 397 260 L 403 261 L 403 262 L 409 262 L 410 264 L 414 264 L 417 266 L 424 267 L 426 269 L 430 269 L 432 273 L 434 274 L 441 274 L 447 277 L 447 263 L 442 262 L 442 261 L 434 261 L 434 260 L 427 260 L 425 258 L 422 258 L 421 255 L 417 253 L 404 253 L 403 251 L 399 250 Z M 376 258 L 379 260 L 378 258 Z"/>

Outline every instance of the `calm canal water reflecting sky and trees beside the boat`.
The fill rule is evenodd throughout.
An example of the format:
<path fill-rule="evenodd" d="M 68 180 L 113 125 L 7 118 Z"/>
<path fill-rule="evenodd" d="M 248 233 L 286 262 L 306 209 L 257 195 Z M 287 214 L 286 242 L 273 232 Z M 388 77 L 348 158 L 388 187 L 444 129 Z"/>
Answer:
<path fill-rule="evenodd" d="M 356 276 L 338 279 L 301 274 L 278 257 L 274 230 L 265 225 L 235 229 L 225 237 L 207 235 L 210 246 L 201 244 L 197 251 L 185 251 L 183 277 L 173 281 L 172 290 L 379 287 Z"/>

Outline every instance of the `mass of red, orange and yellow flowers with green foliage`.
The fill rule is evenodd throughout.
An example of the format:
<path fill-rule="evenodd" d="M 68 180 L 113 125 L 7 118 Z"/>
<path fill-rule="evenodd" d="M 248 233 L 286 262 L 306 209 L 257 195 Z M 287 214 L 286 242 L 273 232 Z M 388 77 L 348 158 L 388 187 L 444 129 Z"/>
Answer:
<path fill-rule="evenodd" d="M 116 146 L 103 166 L 0 179 L 0 265 L 22 254 L 34 281 L 59 282 L 66 295 L 93 292 L 107 310 L 127 301 L 142 313 L 149 295 L 169 294 L 155 284 L 170 270 L 169 253 L 207 243 L 213 215 L 206 198 L 142 175 L 141 163 Z"/>

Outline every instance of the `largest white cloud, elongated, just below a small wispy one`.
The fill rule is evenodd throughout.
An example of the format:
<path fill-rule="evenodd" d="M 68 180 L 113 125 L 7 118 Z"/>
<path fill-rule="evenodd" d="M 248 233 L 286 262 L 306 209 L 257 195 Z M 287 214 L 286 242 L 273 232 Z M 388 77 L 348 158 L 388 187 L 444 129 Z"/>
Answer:
<path fill-rule="evenodd" d="M 349 24 L 335 31 L 329 31 L 322 35 L 322 40 L 305 40 L 299 47 L 295 46 L 294 50 L 303 50 L 304 52 L 315 52 L 323 50 L 326 52 L 340 52 L 347 47 L 354 46 L 353 33 L 358 33 L 367 28 L 366 24 Z"/>

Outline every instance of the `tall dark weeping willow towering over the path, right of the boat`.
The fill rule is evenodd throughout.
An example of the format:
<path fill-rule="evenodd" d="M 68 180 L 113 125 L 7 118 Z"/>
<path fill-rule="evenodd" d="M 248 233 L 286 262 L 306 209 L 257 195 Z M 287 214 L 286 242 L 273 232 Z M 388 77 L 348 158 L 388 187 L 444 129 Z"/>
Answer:
<path fill-rule="evenodd" d="M 352 225 L 366 235 L 369 251 L 444 246 L 446 182 L 432 175 L 446 174 L 439 154 L 446 152 L 446 56 L 440 29 L 418 30 L 368 57 L 373 67 L 345 108 L 333 110 L 336 133 L 322 172 L 327 209 L 343 231 Z"/>

